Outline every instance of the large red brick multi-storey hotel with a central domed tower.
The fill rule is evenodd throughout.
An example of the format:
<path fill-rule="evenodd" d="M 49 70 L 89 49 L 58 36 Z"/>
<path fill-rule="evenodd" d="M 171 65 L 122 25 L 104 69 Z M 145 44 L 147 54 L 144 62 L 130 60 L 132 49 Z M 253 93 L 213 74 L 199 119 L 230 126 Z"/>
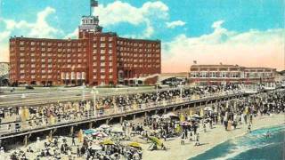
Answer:
<path fill-rule="evenodd" d="M 160 74 L 159 40 L 102 32 L 98 16 L 83 16 L 78 39 L 10 38 L 12 84 L 128 84 Z"/>

